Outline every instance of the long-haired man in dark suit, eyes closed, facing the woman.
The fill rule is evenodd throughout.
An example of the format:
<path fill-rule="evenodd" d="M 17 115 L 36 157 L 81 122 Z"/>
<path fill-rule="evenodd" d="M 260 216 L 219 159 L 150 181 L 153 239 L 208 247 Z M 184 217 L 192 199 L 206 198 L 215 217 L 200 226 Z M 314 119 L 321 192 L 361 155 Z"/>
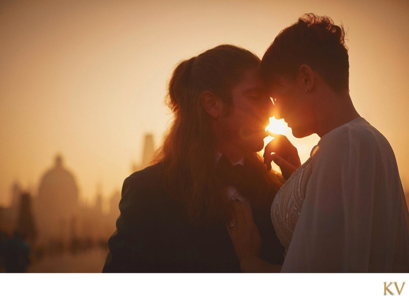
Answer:
<path fill-rule="evenodd" d="M 253 53 L 221 45 L 176 67 L 173 123 L 155 164 L 124 182 L 104 272 L 239 272 L 226 230 L 232 200 L 251 206 L 261 255 L 282 264 L 269 209 L 283 179 L 257 154 L 272 107 L 259 65 Z"/>

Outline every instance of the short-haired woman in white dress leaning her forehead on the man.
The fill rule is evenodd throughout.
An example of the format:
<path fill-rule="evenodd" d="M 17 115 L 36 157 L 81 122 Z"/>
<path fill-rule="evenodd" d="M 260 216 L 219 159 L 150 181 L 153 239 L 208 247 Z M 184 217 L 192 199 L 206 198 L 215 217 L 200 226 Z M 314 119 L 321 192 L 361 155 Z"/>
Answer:
<path fill-rule="evenodd" d="M 275 117 L 295 137 L 321 138 L 272 203 L 286 249 L 281 271 L 409 272 L 409 215 L 396 159 L 352 104 L 343 27 L 304 15 L 276 37 L 261 71 Z M 267 145 L 265 162 L 291 168 L 294 150 L 278 156 L 274 145 Z M 234 208 L 228 229 L 242 270 L 274 270 L 258 256 L 251 211 L 241 203 Z"/>

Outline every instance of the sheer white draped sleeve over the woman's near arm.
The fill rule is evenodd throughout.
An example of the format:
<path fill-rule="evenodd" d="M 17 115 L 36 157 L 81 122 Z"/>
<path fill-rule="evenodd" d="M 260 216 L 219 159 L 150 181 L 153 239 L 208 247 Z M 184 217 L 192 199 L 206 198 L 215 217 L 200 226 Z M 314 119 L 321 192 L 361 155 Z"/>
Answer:
<path fill-rule="evenodd" d="M 348 129 L 319 145 L 282 272 L 366 272 L 376 149 Z"/>

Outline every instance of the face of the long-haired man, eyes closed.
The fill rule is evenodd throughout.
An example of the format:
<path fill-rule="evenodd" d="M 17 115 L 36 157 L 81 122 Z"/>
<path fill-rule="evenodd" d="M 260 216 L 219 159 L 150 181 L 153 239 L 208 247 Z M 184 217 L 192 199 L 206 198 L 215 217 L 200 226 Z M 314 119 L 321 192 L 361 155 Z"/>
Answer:
<path fill-rule="evenodd" d="M 221 120 L 223 141 L 243 151 L 260 151 L 272 102 L 257 68 L 247 70 L 232 89 L 232 106 Z"/>

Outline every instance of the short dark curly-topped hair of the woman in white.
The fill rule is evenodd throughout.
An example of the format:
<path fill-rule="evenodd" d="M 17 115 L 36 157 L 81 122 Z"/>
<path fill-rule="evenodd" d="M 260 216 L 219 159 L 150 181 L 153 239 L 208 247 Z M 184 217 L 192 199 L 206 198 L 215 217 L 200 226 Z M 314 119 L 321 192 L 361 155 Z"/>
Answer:
<path fill-rule="evenodd" d="M 261 73 L 270 84 L 277 77 L 294 79 L 302 64 L 318 72 L 335 92 L 349 90 L 348 49 L 343 26 L 312 13 L 282 30 L 265 52 Z"/>

